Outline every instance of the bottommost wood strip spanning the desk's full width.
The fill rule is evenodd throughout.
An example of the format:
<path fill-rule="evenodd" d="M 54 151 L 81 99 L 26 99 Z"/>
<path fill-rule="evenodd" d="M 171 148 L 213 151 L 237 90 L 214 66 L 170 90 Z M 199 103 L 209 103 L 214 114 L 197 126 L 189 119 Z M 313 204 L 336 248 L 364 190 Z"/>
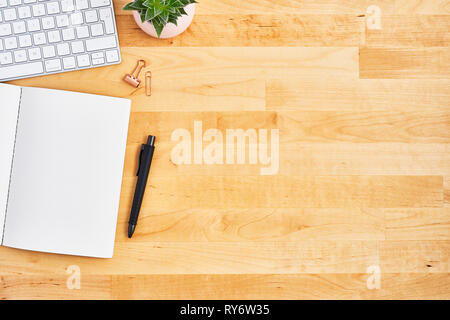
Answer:
<path fill-rule="evenodd" d="M 446 299 L 447 273 L 381 274 L 381 288 L 369 290 L 370 275 L 115 275 L 82 276 L 80 290 L 66 277 L 0 277 L 3 299 Z"/>

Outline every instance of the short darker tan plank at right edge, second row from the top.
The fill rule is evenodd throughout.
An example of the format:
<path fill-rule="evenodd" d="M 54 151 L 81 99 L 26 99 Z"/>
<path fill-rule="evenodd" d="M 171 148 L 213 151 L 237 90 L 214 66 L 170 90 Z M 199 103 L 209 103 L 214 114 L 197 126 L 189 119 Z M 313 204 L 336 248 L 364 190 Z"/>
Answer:
<path fill-rule="evenodd" d="M 359 70 L 365 79 L 450 78 L 450 49 L 360 48 Z"/>

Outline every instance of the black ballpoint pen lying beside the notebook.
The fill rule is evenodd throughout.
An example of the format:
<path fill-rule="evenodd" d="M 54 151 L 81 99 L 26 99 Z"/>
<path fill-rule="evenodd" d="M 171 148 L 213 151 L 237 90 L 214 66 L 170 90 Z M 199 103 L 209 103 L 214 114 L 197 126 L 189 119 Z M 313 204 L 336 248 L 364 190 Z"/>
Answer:
<path fill-rule="evenodd" d="M 136 229 L 139 211 L 141 210 L 142 199 L 144 199 L 145 186 L 147 185 L 148 174 L 152 164 L 153 152 L 155 151 L 155 137 L 148 136 L 146 144 L 141 146 L 139 153 L 139 167 L 136 175 L 138 180 L 134 191 L 133 205 L 131 207 L 130 220 L 128 221 L 128 238 L 133 236 Z"/>

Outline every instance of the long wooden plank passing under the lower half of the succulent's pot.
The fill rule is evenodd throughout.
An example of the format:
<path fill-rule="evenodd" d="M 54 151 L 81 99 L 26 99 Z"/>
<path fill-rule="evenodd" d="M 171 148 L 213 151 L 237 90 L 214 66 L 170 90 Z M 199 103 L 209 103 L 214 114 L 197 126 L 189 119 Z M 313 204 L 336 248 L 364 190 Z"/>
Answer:
<path fill-rule="evenodd" d="M 214 21 L 214 23 L 211 23 Z M 182 36 L 155 39 L 130 15 L 117 17 L 124 47 L 358 46 L 364 18 L 357 15 L 196 15 Z"/>

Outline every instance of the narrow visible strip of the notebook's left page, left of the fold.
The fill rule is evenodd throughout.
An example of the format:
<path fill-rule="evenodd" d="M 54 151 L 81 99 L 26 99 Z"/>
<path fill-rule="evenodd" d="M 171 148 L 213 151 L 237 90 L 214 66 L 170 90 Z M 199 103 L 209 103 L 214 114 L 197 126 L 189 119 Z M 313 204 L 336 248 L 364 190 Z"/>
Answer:
<path fill-rule="evenodd" d="M 3 239 L 20 92 L 20 87 L 0 84 L 0 243 Z"/>

